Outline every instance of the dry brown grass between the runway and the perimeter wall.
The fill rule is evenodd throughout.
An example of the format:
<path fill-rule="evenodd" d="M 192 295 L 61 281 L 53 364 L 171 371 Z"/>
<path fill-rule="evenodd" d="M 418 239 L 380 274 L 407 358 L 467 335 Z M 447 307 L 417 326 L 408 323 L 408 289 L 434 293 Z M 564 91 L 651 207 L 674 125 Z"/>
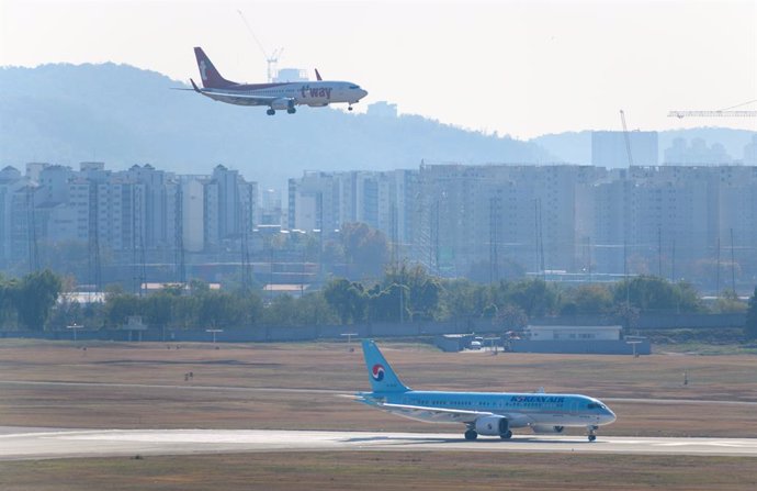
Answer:
<path fill-rule="evenodd" d="M 599 398 L 757 401 L 754 356 L 573 356 L 443 354 L 384 345 L 415 388 L 579 392 Z M 689 384 L 683 386 L 683 371 Z M 185 381 L 184 375 L 194 377 Z M 368 390 L 359 349 L 343 344 L 183 345 L 0 342 L 0 380 L 80 381 L 104 386 L 1 384 L 0 425 L 57 427 L 208 427 L 438 431 L 329 393 L 234 388 Z M 165 388 L 108 383 L 174 386 Z M 178 386 L 178 387 L 176 387 Z M 213 387 L 213 388 L 211 388 Z M 188 390 L 195 388 L 196 390 Z M 748 405 L 611 404 L 615 424 L 601 434 L 757 437 Z M 452 429 L 452 427 L 448 427 Z"/>

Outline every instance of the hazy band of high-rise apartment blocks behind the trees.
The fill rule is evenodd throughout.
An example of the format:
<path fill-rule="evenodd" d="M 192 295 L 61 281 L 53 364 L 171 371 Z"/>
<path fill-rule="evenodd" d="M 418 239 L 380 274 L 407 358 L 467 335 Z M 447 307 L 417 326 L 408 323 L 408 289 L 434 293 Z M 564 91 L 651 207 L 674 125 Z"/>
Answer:
<path fill-rule="evenodd" d="M 183 282 L 228 274 L 240 260 L 260 269 L 273 263 L 278 244 L 279 260 L 349 275 L 359 264 L 344 267 L 347 256 L 335 259 L 338 248 L 327 243 L 362 223 L 386 241 L 392 258 L 384 265 L 408 261 L 441 277 L 601 282 L 657 275 L 743 289 L 757 267 L 756 182 L 757 167 L 739 165 L 426 164 L 308 171 L 290 179 L 284 210 L 281 196 L 261 200 L 257 182 L 221 165 L 183 175 L 151 165 L 34 163 L 25 175 L 0 170 L 0 268 L 37 270 L 56 260 L 70 268 L 49 255 L 58 250 L 89 263 L 69 272 L 97 284 L 90 278 L 100 278 L 92 272 L 100 257 L 108 282 Z"/>

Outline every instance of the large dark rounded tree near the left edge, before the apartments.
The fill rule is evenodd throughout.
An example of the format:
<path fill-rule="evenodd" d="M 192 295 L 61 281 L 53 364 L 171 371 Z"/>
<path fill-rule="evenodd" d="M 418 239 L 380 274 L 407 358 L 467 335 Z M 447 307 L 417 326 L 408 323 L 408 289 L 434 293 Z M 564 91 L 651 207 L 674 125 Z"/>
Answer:
<path fill-rule="evenodd" d="M 21 325 L 27 330 L 43 331 L 60 290 L 60 278 L 49 269 L 23 277 L 13 295 Z"/>

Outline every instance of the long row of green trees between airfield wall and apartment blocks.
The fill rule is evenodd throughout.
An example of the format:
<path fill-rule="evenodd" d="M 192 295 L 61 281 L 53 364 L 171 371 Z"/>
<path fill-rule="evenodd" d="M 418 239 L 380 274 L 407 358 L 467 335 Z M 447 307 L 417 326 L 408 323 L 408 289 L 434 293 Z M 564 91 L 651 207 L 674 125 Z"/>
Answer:
<path fill-rule="evenodd" d="M 603 315 L 633 324 L 643 312 L 743 312 L 757 337 L 757 301 L 745 305 L 726 292 L 705 306 L 686 282 L 640 276 L 614 283 L 564 286 L 539 278 L 490 284 L 442 279 L 421 266 L 399 265 L 375 281 L 330 279 L 319 291 L 300 298 L 268 297 L 252 290 L 213 290 L 202 281 L 187 288 L 166 286 L 137 295 L 118 287 L 101 303 L 80 304 L 61 297 L 64 281 L 49 270 L 21 279 L 0 277 L 0 328 L 42 331 L 77 324 L 90 330 L 118 328 L 139 315 L 151 328 L 334 325 L 370 322 L 487 319 L 502 330 L 524 327 L 549 315 Z M 757 289 L 755 291 L 757 294 Z"/>

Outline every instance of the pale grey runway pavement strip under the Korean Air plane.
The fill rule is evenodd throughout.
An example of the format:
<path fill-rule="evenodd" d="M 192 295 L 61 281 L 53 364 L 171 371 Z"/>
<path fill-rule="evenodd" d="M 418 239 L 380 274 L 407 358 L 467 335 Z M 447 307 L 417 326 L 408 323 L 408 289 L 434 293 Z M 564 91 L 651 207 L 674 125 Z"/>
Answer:
<path fill-rule="evenodd" d="M 453 433 L 0 427 L 0 460 L 251 451 L 581 451 L 757 457 L 757 438 L 516 435 L 467 442 Z"/>

